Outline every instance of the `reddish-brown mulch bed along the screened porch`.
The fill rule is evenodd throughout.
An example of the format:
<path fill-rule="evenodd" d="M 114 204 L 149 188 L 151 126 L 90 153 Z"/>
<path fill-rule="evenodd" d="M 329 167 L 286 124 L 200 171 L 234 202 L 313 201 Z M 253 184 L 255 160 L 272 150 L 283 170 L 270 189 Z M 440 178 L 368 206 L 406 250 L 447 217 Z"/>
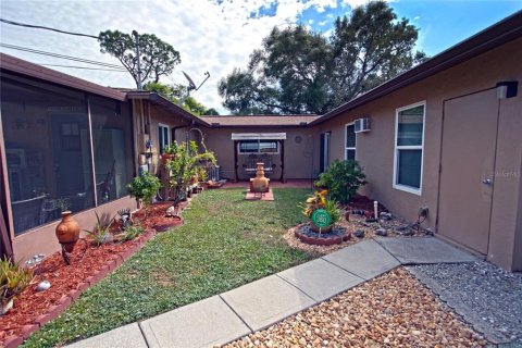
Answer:
<path fill-rule="evenodd" d="M 133 220 L 144 226 L 145 231 L 151 231 L 158 224 L 172 222 L 179 224 L 179 219 L 164 216 L 170 206 L 172 202 L 154 203 L 147 210 L 147 217 L 141 209 L 133 213 Z M 121 231 L 122 224 L 116 221 L 111 226 L 111 232 L 117 234 Z M 35 269 L 35 278 L 15 299 L 13 309 L 0 316 L 0 347 L 5 338 L 20 335 L 24 325 L 33 323 L 39 315 L 47 313 L 49 308 L 55 306 L 63 296 L 77 289 L 85 278 L 100 270 L 108 261 L 117 258 L 119 253 L 136 247 L 141 238 L 144 235 L 133 241 L 114 241 L 100 246 L 96 246 L 90 237 L 82 238 L 71 253 L 71 265 L 65 263 L 60 252 L 47 257 Z M 49 281 L 51 287 L 46 291 L 36 291 L 38 283 L 44 279 Z"/>

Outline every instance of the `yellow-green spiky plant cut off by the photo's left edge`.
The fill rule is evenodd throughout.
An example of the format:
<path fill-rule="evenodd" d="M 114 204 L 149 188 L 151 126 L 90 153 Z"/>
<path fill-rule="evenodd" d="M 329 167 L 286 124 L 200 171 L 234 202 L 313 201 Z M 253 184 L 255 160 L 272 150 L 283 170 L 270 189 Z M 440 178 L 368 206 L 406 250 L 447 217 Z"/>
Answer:
<path fill-rule="evenodd" d="M 20 266 L 20 262 L 0 259 L 0 304 L 5 306 L 22 293 L 33 279 L 33 271 Z"/>

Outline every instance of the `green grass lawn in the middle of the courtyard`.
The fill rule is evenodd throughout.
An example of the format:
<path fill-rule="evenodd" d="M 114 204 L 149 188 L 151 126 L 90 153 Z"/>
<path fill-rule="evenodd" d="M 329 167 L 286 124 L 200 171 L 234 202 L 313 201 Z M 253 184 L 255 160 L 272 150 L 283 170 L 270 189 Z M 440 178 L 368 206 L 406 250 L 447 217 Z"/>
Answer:
<path fill-rule="evenodd" d="M 302 221 L 297 203 L 308 192 L 274 189 L 269 202 L 244 200 L 244 189 L 206 190 L 184 211 L 183 226 L 149 241 L 24 347 L 94 336 L 312 259 L 282 239 Z"/>

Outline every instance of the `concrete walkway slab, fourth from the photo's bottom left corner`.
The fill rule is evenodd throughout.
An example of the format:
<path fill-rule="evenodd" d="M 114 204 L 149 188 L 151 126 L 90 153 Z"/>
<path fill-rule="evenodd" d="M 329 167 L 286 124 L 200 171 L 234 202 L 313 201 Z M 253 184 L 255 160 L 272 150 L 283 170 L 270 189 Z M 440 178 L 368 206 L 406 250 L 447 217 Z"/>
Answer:
<path fill-rule="evenodd" d="M 364 282 L 363 278 L 346 272 L 323 259 L 303 263 L 277 273 L 277 275 L 301 289 L 318 302 Z"/>

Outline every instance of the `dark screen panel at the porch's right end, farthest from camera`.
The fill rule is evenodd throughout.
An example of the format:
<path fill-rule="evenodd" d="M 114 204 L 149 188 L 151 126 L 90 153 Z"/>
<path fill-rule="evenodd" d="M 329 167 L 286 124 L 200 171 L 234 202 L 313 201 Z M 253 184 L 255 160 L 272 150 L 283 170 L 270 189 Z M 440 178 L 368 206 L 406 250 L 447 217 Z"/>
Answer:
<path fill-rule="evenodd" d="M 133 178 L 132 117 L 125 103 L 90 97 L 98 204 L 127 196 Z"/>

